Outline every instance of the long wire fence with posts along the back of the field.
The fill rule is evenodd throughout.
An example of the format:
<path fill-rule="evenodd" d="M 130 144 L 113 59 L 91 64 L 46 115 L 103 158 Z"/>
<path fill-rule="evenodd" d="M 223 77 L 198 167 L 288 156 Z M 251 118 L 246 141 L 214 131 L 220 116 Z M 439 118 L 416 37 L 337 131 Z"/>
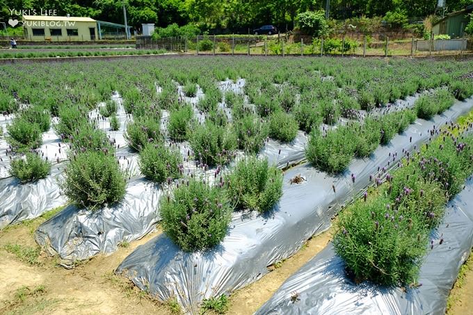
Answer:
<path fill-rule="evenodd" d="M 209 35 L 192 38 L 136 38 L 136 49 L 164 49 L 170 52 L 198 55 L 264 55 L 264 56 L 424 56 L 463 54 L 470 51 L 468 40 L 362 40 L 326 38 L 291 42 L 286 36 Z"/>

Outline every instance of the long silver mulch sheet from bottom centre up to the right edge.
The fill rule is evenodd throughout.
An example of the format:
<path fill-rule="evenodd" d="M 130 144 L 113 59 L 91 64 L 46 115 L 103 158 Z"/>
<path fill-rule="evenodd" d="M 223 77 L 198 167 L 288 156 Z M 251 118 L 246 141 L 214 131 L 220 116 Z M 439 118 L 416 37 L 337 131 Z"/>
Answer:
<path fill-rule="evenodd" d="M 134 250 L 116 273 L 161 300 L 177 298 L 186 312 L 197 314 L 202 299 L 255 282 L 268 273 L 266 266 L 294 255 L 310 236 L 328 229 L 330 218 L 368 186 L 378 168 L 395 165 L 403 157 L 401 152 L 412 152 L 425 143 L 434 126 L 456 120 L 472 107 L 471 99 L 456 102 L 433 120 L 417 120 L 368 159 L 353 161 L 343 175 L 332 177 L 310 165 L 291 168 L 284 175 L 284 193 L 275 209 L 264 216 L 234 213 L 227 236 L 213 250 L 182 252 L 161 234 Z M 305 180 L 290 184 L 296 175 Z"/>

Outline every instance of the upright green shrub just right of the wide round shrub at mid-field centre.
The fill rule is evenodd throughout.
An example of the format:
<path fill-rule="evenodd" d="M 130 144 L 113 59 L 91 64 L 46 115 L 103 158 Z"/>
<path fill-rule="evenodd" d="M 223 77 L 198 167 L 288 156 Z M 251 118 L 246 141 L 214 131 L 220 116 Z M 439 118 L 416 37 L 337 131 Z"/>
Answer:
<path fill-rule="evenodd" d="M 269 134 L 268 123 L 254 114 L 243 115 L 235 120 L 234 130 L 239 149 L 254 154 L 261 150 Z"/>

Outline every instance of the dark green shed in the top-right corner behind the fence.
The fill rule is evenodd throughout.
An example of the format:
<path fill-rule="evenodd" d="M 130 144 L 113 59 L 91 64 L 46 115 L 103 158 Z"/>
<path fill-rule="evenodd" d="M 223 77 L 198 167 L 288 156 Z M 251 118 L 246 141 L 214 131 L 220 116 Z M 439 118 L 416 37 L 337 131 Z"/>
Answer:
<path fill-rule="evenodd" d="M 465 33 L 465 27 L 470 22 L 469 13 L 472 13 L 473 5 L 467 6 L 465 10 L 450 13 L 432 26 L 434 35 L 447 34 L 451 38 L 461 38 Z"/>

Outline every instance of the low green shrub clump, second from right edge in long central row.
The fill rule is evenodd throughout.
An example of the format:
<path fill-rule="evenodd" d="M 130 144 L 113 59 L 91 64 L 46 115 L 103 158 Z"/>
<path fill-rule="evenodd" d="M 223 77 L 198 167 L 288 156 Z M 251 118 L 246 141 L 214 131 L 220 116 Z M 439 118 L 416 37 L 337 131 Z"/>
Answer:
<path fill-rule="evenodd" d="M 443 113 L 454 104 L 454 97 L 448 90 L 440 89 L 427 92 L 415 101 L 417 117 L 429 120 L 434 115 Z"/>

